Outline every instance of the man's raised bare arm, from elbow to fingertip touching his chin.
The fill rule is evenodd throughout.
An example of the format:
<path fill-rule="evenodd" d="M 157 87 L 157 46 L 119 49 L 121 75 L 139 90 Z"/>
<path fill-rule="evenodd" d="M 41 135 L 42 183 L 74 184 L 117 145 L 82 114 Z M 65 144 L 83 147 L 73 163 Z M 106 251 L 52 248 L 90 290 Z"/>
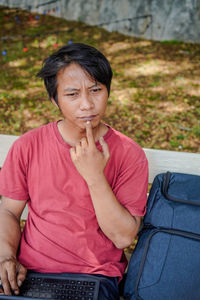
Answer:
<path fill-rule="evenodd" d="M 103 152 L 96 148 L 91 124 L 86 124 L 86 138 L 71 148 L 71 158 L 88 184 L 99 226 L 117 248 L 123 249 L 133 242 L 141 218 L 132 216 L 116 199 L 104 175 L 109 148 L 103 138 L 100 143 Z"/>

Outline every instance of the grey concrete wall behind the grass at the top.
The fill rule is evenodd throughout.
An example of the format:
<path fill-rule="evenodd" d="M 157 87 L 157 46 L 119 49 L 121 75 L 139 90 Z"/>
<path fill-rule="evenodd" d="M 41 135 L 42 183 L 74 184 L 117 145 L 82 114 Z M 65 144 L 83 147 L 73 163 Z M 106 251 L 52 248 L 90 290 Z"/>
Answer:
<path fill-rule="evenodd" d="M 200 42 L 200 0 L 0 0 L 153 40 Z"/>

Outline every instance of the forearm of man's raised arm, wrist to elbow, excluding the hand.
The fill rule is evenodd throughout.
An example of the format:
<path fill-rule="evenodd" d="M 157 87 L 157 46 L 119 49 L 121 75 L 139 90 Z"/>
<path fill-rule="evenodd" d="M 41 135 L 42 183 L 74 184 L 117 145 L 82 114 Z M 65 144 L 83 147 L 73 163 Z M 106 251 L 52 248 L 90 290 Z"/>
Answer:
<path fill-rule="evenodd" d="M 132 216 L 119 203 L 104 175 L 96 180 L 88 187 L 99 226 L 117 248 L 128 247 L 138 233 L 141 217 Z"/>

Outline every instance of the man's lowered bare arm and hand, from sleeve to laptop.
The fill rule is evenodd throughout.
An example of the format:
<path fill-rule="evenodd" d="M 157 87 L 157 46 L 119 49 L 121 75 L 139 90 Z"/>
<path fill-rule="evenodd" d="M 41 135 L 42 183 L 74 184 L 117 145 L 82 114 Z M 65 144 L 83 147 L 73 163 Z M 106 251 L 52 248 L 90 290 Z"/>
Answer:
<path fill-rule="evenodd" d="M 26 201 L 2 198 L 0 204 L 0 279 L 3 291 L 19 293 L 19 286 L 26 277 L 26 269 L 17 261 L 16 254 L 21 238 L 20 216 Z"/>

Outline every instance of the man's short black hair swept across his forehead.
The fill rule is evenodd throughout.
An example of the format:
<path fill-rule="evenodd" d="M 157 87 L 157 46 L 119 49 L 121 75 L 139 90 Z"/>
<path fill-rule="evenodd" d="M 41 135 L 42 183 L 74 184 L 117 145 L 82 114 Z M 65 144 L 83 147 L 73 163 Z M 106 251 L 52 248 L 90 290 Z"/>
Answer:
<path fill-rule="evenodd" d="M 44 79 L 49 98 L 58 104 L 57 73 L 71 63 L 80 65 L 95 81 L 104 84 L 110 94 L 112 69 L 107 58 L 96 48 L 72 43 L 60 48 L 44 60 L 42 69 L 37 76 Z"/>

